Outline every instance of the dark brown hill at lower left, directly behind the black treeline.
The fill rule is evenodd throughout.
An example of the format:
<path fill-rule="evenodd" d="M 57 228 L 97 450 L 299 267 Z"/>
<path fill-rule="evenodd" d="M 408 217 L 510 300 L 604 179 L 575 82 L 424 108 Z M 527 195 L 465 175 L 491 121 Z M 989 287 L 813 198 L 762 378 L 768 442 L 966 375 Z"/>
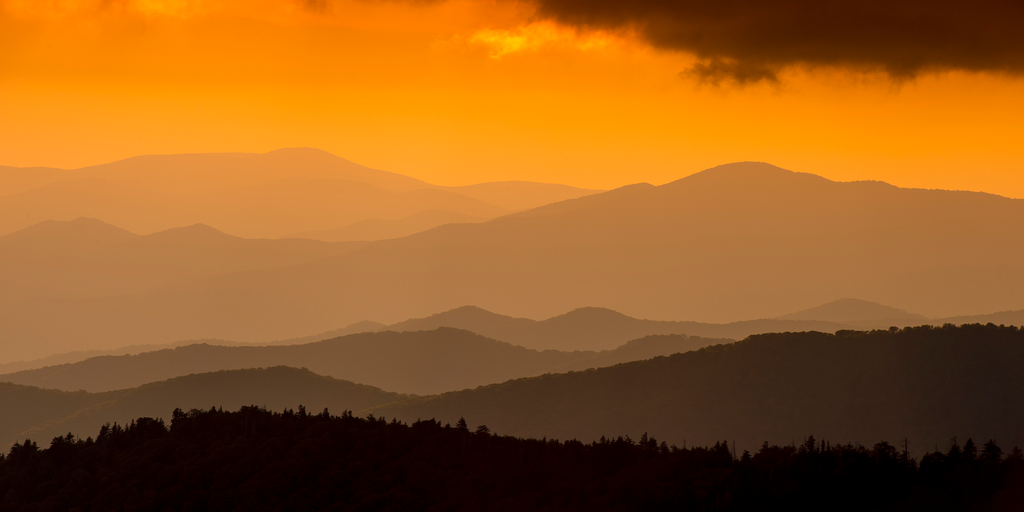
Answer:
<path fill-rule="evenodd" d="M 406 395 L 315 375 L 308 370 L 274 367 L 188 375 L 133 389 L 105 393 L 68 393 L 0 384 L 0 441 L 49 439 L 68 432 L 95 435 L 106 422 L 122 424 L 145 416 L 170 418 L 176 408 L 234 410 L 259 404 L 283 410 L 301 403 L 310 411 L 362 411 Z M 30 425 L 30 423 L 32 423 Z"/>

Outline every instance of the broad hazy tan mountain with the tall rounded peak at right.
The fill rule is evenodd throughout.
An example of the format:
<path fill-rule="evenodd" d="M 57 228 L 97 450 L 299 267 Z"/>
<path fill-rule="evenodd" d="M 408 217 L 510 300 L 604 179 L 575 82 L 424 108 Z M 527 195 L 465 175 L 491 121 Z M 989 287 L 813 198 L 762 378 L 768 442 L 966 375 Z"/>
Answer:
<path fill-rule="evenodd" d="M 1007 233 L 1022 231 L 1024 200 L 744 163 L 138 299 L 10 304 L 0 339 L 66 339 L 59 319 L 81 340 L 270 341 L 465 304 L 524 317 L 596 305 L 701 322 L 836 297 L 929 317 L 1021 309 L 1024 239 Z"/>

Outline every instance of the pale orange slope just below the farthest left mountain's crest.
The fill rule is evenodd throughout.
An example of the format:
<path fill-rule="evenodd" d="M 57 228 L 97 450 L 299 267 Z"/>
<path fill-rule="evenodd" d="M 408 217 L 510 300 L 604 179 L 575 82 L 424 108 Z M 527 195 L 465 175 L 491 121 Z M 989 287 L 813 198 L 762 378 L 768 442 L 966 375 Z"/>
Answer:
<path fill-rule="evenodd" d="M 393 191 L 350 179 L 289 176 L 227 189 L 168 191 L 89 177 L 2 198 L 0 233 L 39 220 L 92 217 L 141 233 L 204 223 L 240 237 L 279 238 L 424 210 L 480 218 L 509 213 L 439 188 Z"/>

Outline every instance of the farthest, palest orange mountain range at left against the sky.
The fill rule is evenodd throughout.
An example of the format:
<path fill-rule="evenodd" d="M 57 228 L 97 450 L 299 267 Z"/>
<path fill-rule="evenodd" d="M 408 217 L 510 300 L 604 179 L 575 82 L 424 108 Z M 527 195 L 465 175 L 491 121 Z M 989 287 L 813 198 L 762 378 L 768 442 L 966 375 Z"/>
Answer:
<path fill-rule="evenodd" d="M 205 223 L 246 238 L 432 211 L 488 219 L 596 191 L 514 181 L 437 186 L 312 148 L 142 156 L 75 170 L 6 167 L 0 168 L 0 234 L 42 220 L 90 217 L 136 233 Z M 364 229 L 353 236 L 359 239 L 344 241 L 393 233 Z"/>

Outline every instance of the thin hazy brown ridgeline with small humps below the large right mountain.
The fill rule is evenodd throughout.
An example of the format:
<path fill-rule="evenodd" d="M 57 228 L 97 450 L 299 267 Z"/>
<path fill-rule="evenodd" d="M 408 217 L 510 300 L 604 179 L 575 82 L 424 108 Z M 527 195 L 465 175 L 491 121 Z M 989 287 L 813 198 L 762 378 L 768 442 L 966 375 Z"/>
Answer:
<path fill-rule="evenodd" d="M 850 312 L 842 307 L 836 307 L 836 305 L 843 304 L 852 304 L 855 310 Z M 848 319 L 845 322 L 823 319 L 826 316 L 825 313 L 834 313 L 837 309 L 839 312 L 836 313 L 835 317 Z M 901 311 L 900 314 L 895 313 L 899 311 Z M 794 316 L 801 319 L 795 319 L 793 318 Z M 822 304 L 819 307 L 805 309 L 776 318 L 741 321 L 731 324 L 709 324 L 639 319 L 603 307 L 581 307 L 546 321 L 536 321 L 495 313 L 477 306 L 462 306 L 421 318 L 410 318 L 390 326 L 379 322 L 361 321 L 344 328 L 332 329 L 317 334 L 262 343 L 239 343 L 226 340 L 190 340 L 169 344 L 132 345 L 111 350 L 80 350 L 59 353 L 40 359 L 0 364 L 0 376 L 26 370 L 41 369 L 43 367 L 78 362 L 98 355 L 137 354 L 195 343 L 222 346 L 302 345 L 358 333 L 433 331 L 439 328 L 470 331 L 499 341 L 536 350 L 604 350 L 593 357 L 587 356 L 578 362 L 559 367 L 559 371 L 567 371 L 570 369 L 600 367 L 612 359 L 616 361 L 627 360 L 622 359 L 622 357 L 633 357 L 636 359 L 652 357 L 657 355 L 655 352 L 658 350 L 665 350 L 665 348 L 655 347 L 658 347 L 659 344 L 664 345 L 663 341 L 659 340 L 668 338 L 659 337 L 666 335 L 689 335 L 702 337 L 693 338 L 694 340 L 721 339 L 723 340 L 721 342 L 725 342 L 729 339 L 740 340 L 748 336 L 770 332 L 818 331 L 835 333 L 840 330 L 889 329 L 891 327 L 921 325 L 942 326 L 945 324 L 1024 326 L 1024 309 L 947 318 L 927 318 L 920 314 L 909 313 L 902 309 L 885 306 L 876 302 L 859 299 L 840 299 Z M 681 345 L 672 339 L 669 339 L 667 343 L 672 344 L 675 349 L 681 347 Z M 642 347 L 637 349 L 637 346 Z M 651 350 L 654 351 L 652 352 Z M 639 354 L 649 355 L 641 356 Z M 73 389 L 78 389 L 78 387 Z"/>

